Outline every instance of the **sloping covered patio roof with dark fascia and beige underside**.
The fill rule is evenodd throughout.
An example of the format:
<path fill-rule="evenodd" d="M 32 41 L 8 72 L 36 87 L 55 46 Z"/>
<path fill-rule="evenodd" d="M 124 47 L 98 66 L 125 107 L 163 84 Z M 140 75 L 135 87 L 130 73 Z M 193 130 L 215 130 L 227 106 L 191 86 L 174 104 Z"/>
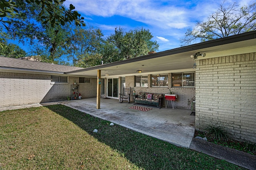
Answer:
<path fill-rule="evenodd" d="M 252 53 L 255 52 L 256 49 L 255 38 L 256 31 L 251 31 L 124 61 L 65 72 L 64 74 L 96 77 L 97 70 L 101 70 L 101 77 L 105 77 L 105 74 L 109 74 L 109 76 L 129 76 L 134 74 L 154 74 L 154 72 L 161 73 L 173 70 L 176 70 L 176 72 L 178 70 L 191 71 L 193 70 L 194 60 L 190 58 L 190 55 L 200 52 L 206 53 L 206 57 L 204 58 L 213 58 Z M 202 58 L 202 56 L 198 57 L 198 59 Z M 136 70 L 142 70 L 142 72 L 138 74 Z"/>

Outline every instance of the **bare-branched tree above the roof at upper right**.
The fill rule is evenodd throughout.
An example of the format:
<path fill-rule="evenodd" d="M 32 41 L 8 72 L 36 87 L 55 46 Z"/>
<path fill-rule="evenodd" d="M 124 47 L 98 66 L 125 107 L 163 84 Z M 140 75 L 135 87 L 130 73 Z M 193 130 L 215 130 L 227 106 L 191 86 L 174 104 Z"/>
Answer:
<path fill-rule="evenodd" d="M 208 21 L 198 22 L 193 29 L 188 29 L 180 40 L 182 45 L 256 30 L 256 2 L 243 7 L 239 7 L 236 2 L 226 7 L 225 2 L 208 17 Z"/>

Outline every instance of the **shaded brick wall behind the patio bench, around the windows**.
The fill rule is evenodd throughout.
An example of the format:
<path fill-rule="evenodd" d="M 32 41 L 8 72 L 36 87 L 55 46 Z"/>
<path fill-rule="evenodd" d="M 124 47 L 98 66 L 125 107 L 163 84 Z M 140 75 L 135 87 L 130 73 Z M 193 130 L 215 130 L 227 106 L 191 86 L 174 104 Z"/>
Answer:
<path fill-rule="evenodd" d="M 125 83 L 127 87 L 131 87 L 131 90 L 135 90 L 136 94 L 139 92 L 148 92 L 148 93 L 159 93 L 159 94 L 168 94 L 170 91 L 169 89 L 177 94 L 177 107 L 182 109 L 190 109 L 191 106 L 189 101 L 195 96 L 195 88 L 171 88 L 171 83 L 169 83 L 168 88 L 152 88 L 152 87 L 134 87 L 134 76 L 126 76 Z M 171 74 L 168 74 L 168 81 L 171 81 Z M 148 85 L 150 85 L 150 75 L 148 75 Z M 133 101 L 133 99 L 131 100 Z M 165 101 L 164 101 L 165 106 Z"/>

